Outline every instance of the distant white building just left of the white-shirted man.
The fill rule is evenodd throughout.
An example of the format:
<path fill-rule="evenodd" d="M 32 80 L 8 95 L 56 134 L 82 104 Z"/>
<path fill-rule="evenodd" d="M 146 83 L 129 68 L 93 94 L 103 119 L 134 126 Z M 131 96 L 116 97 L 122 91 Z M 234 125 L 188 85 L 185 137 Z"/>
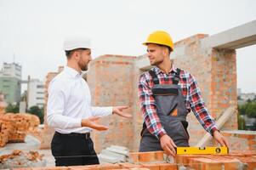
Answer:
<path fill-rule="evenodd" d="M 27 108 L 44 104 L 44 83 L 38 79 L 29 79 L 27 82 Z"/>

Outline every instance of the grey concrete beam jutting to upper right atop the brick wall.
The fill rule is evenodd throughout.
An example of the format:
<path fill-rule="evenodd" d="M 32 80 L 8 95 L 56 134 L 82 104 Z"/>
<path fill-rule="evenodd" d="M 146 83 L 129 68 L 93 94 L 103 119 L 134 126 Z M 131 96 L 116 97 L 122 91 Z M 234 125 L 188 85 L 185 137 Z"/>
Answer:
<path fill-rule="evenodd" d="M 256 20 L 230 30 L 205 37 L 201 40 L 202 48 L 243 48 L 256 44 Z"/>

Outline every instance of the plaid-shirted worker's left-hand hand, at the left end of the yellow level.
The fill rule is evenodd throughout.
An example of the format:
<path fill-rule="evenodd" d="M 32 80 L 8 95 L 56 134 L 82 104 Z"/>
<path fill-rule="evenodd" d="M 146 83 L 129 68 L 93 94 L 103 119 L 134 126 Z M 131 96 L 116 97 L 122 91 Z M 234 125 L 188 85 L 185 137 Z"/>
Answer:
<path fill-rule="evenodd" d="M 175 148 L 177 148 L 176 144 L 174 144 L 173 139 L 171 139 L 168 134 L 162 135 L 160 138 L 160 144 L 162 147 L 162 150 L 166 151 L 168 155 L 175 156 L 176 151 Z"/>

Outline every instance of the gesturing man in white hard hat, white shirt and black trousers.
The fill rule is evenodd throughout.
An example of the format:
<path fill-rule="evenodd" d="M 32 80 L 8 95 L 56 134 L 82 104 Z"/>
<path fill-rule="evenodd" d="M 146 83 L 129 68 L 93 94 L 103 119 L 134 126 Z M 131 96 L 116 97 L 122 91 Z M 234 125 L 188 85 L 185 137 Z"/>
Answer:
<path fill-rule="evenodd" d="M 100 116 L 117 114 L 131 117 L 122 110 L 127 106 L 92 107 L 87 82 L 82 71 L 88 70 L 92 60 L 91 44 L 88 37 L 69 37 L 64 42 L 67 65 L 49 83 L 47 122 L 54 127 L 51 143 L 56 166 L 99 164 L 90 139 L 92 128 L 106 130 L 98 124 Z"/>

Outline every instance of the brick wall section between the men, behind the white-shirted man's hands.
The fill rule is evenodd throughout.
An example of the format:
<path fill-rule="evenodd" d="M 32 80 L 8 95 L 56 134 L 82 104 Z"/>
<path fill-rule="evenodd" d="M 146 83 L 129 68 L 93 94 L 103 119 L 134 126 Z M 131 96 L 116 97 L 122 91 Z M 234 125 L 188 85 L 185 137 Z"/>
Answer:
<path fill-rule="evenodd" d="M 88 86 L 92 94 L 92 105 L 111 106 L 128 105 L 128 113 L 134 114 L 133 82 L 134 57 L 104 55 L 91 63 L 87 75 Z M 120 116 L 107 116 L 100 120 L 109 127 L 108 131 L 94 131 L 94 145 L 101 150 L 111 144 L 133 148 L 133 119 Z"/>

